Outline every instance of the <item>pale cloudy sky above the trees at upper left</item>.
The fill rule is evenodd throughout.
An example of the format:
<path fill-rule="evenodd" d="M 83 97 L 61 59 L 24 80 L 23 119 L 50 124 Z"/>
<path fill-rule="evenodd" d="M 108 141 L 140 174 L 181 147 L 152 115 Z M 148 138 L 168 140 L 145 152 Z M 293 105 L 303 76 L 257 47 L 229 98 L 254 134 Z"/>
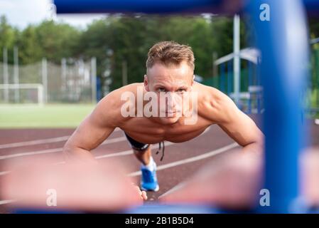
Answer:
<path fill-rule="evenodd" d="M 0 0 L 0 15 L 6 15 L 9 24 L 25 28 L 28 24 L 39 24 L 43 19 L 53 16 L 56 21 L 64 21 L 73 26 L 85 28 L 94 19 L 100 19 L 102 14 L 63 15 L 52 14 L 50 0 Z"/>

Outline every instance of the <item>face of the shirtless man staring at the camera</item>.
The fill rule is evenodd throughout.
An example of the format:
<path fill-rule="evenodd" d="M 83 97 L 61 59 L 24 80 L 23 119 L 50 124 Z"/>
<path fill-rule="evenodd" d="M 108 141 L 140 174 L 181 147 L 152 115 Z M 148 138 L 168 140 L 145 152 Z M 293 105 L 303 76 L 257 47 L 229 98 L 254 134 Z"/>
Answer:
<path fill-rule="evenodd" d="M 146 91 L 156 93 L 158 116 L 163 124 L 176 123 L 188 108 L 185 104 L 189 103 L 193 78 L 193 68 L 186 62 L 171 66 L 155 63 L 148 68 L 144 86 Z"/>

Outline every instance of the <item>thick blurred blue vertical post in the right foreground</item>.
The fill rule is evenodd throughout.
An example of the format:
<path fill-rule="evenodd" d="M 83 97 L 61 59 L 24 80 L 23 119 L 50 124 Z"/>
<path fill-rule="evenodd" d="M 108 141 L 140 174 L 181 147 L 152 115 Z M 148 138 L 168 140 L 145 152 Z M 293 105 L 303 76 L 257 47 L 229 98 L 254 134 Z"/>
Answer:
<path fill-rule="evenodd" d="M 269 4 L 270 21 L 259 6 Z M 250 1 L 257 46 L 261 50 L 266 135 L 265 185 L 271 206 L 262 212 L 290 212 L 298 196 L 298 152 L 303 145 L 301 91 L 307 78 L 308 36 L 302 2 Z"/>

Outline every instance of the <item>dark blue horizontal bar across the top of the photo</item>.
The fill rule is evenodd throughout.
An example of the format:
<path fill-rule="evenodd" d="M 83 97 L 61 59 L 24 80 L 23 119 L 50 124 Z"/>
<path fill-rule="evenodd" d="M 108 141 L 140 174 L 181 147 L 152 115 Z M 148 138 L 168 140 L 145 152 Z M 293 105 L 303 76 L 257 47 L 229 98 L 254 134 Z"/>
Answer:
<path fill-rule="evenodd" d="M 208 13 L 230 11 L 222 0 L 54 0 L 57 14 L 80 13 Z M 240 6 L 240 4 L 239 4 Z M 238 7 L 237 7 L 238 8 Z"/>

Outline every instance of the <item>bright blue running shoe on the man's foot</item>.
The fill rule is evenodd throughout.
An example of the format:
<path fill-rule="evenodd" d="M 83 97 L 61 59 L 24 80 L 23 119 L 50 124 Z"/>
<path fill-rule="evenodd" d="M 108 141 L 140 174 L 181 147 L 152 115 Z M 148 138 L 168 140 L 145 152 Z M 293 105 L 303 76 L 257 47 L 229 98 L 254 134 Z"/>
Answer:
<path fill-rule="evenodd" d="M 156 177 L 156 163 L 153 162 L 153 171 L 141 167 L 141 190 L 157 192 L 159 190 Z"/>

